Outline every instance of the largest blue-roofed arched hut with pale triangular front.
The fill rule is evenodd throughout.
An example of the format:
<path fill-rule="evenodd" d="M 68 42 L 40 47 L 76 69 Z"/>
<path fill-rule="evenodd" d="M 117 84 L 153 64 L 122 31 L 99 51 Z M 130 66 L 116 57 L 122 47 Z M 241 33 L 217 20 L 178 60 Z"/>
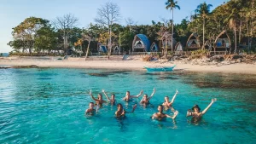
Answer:
<path fill-rule="evenodd" d="M 150 42 L 148 37 L 143 34 L 137 34 L 132 42 L 132 51 L 133 52 L 149 52 L 150 51 Z"/>

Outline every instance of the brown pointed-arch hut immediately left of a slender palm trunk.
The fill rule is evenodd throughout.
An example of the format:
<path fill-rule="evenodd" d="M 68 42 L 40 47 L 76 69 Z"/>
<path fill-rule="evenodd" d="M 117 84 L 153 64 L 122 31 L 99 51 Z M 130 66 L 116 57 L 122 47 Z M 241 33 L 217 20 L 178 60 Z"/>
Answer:
<path fill-rule="evenodd" d="M 197 49 L 201 48 L 199 37 L 198 37 L 198 35 L 195 32 L 193 32 L 189 36 L 189 39 L 188 39 L 187 44 L 186 44 L 186 48 L 189 51 L 197 50 Z"/>

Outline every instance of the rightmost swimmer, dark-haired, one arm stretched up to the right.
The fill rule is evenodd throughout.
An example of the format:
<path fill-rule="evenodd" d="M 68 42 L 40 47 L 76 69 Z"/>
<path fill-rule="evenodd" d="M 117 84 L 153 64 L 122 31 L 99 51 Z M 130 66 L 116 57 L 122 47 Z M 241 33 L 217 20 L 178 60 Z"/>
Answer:
<path fill-rule="evenodd" d="M 198 105 L 195 105 L 194 107 L 191 108 L 192 111 L 191 111 L 191 110 L 188 110 L 188 112 L 187 112 L 187 117 L 192 116 L 192 117 L 193 117 L 192 121 L 195 121 L 195 122 L 198 121 L 198 120 L 200 120 L 201 117 L 202 117 L 204 114 L 206 114 L 206 112 L 208 111 L 208 109 L 209 109 L 210 107 L 212 107 L 212 104 L 213 104 L 215 101 L 217 101 L 216 98 L 212 99 L 211 103 L 210 103 L 210 104 L 207 106 L 207 108 L 205 108 L 202 112 L 200 112 L 200 111 L 201 111 L 201 108 L 200 108 Z"/>

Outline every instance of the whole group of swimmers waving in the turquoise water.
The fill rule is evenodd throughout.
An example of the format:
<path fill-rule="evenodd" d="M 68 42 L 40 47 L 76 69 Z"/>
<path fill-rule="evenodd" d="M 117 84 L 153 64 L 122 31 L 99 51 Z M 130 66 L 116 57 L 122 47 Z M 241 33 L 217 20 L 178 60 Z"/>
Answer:
<path fill-rule="evenodd" d="M 92 98 L 92 100 L 94 100 L 96 103 L 90 102 L 89 108 L 85 111 L 86 115 L 87 114 L 93 115 L 95 112 L 98 112 L 99 107 L 102 107 L 103 103 L 109 102 L 112 105 L 116 104 L 115 95 L 111 95 L 111 98 L 109 98 L 104 89 L 102 89 L 102 93 L 106 96 L 108 101 L 103 100 L 101 93 L 98 94 L 98 98 L 96 99 L 91 94 L 91 90 L 90 90 L 89 95 Z M 153 97 L 154 93 L 155 93 L 155 89 L 153 89 L 153 93 L 148 97 L 148 95 L 146 95 L 146 94 L 143 95 L 143 90 L 138 95 L 130 95 L 130 91 L 126 91 L 126 95 L 122 100 L 125 101 L 125 102 L 129 102 L 129 101 L 132 100 L 132 98 L 139 98 L 141 95 L 143 95 L 143 99 L 140 101 L 140 104 L 143 105 L 143 106 L 147 106 L 149 104 L 149 101 Z M 178 112 L 177 112 L 177 110 L 174 110 L 172 105 L 173 105 L 173 102 L 174 102 L 177 94 L 178 94 L 178 91 L 176 90 L 175 95 L 173 95 L 173 97 L 172 97 L 172 101 L 169 101 L 169 97 L 166 96 L 164 103 L 158 106 L 158 112 L 155 112 L 152 115 L 151 118 L 152 119 L 157 119 L 157 120 L 162 120 L 164 118 L 175 119 L 177 117 Z M 191 109 L 188 110 L 187 117 L 191 116 L 196 121 L 201 119 L 201 117 L 207 112 L 207 110 L 212 106 L 212 104 L 215 101 L 217 101 L 217 99 L 212 99 L 211 103 L 202 112 L 201 112 L 201 108 L 198 105 L 195 105 L 194 107 L 192 107 Z M 96 109 L 94 108 L 95 105 L 96 105 Z M 132 107 L 131 112 L 134 112 L 136 108 L 137 108 L 137 104 L 135 104 Z M 168 110 L 168 109 L 171 109 L 171 111 L 173 112 L 172 116 L 163 112 L 164 110 Z M 123 105 L 121 103 L 118 103 L 117 104 L 117 111 L 115 112 L 115 116 L 117 118 L 123 118 L 123 117 L 125 117 L 125 113 L 128 113 L 128 112 L 125 111 L 125 109 L 123 108 Z"/>

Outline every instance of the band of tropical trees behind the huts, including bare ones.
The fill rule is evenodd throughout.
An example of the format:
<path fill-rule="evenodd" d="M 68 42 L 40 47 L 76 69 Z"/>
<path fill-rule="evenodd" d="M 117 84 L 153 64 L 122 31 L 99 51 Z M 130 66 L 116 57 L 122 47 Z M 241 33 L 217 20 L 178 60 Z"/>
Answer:
<path fill-rule="evenodd" d="M 73 14 L 65 14 L 53 21 L 29 17 L 13 28 L 13 40 L 8 44 L 19 54 L 66 55 L 73 51 L 73 54 L 82 56 L 97 53 L 100 43 L 108 48 L 119 46 L 120 52 L 129 52 L 133 37 L 139 33 L 145 34 L 151 43 L 161 46 L 160 33 L 163 31 L 170 32 L 183 46 L 189 35 L 195 32 L 202 42 L 201 49 L 206 49 L 207 40 L 214 42 L 219 33 L 225 31 L 230 36 L 232 53 L 251 53 L 256 50 L 255 0 L 230 0 L 215 9 L 211 9 L 211 3 L 199 3 L 195 14 L 189 15 L 180 23 L 174 23 L 173 10 L 182 8 L 177 1 L 167 0 L 166 9 L 172 11 L 172 20 L 152 20 L 150 25 L 127 22 L 126 26 L 119 24 L 119 7 L 115 3 L 107 4 L 114 7 L 112 12 L 118 10 L 116 17 L 110 22 L 102 21 L 101 17 L 105 15 L 101 15 L 101 8 L 98 9 L 96 23 L 91 23 L 86 28 L 76 25 L 78 19 Z"/>

